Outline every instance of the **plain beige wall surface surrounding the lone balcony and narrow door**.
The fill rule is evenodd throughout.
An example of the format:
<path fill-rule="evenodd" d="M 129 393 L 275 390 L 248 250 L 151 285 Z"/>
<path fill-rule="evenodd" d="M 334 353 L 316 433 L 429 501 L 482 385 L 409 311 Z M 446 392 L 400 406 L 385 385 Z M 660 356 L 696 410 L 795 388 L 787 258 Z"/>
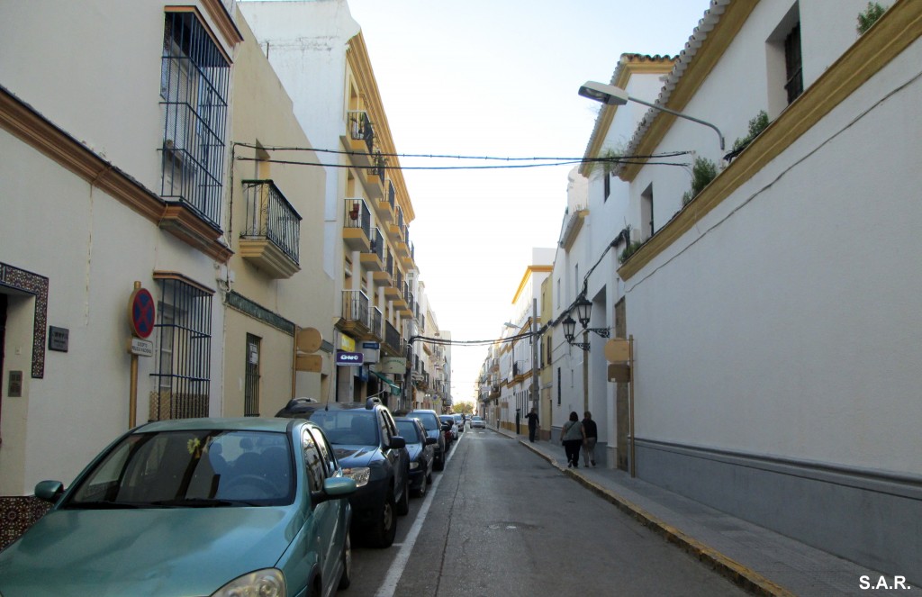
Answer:
<path fill-rule="evenodd" d="M 324 222 L 317 217 L 324 210 L 325 171 L 318 166 L 274 163 L 269 161 L 269 152 L 260 149 L 309 148 L 311 141 L 301 130 L 290 97 L 266 60 L 265 49 L 255 41 L 242 18 L 239 23 L 244 42 L 235 56 L 231 127 L 232 141 L 241 144 L 234 148 L 233 164 L 234 224 L 230 240 L 236 255 L 231 258 L 231 274 L 222 281 L 222 290 L 239 296 L 233 304 L 240 306 L 227 307 L 223 412 L 228 416 L 245 413 L 246 364 L 251 358 L 247 334 L 251 334 L 260 343 L 258 412 L 271 416 L 290 398 L 325 400 L 331 388 L 331 348 L 316 352 L 323 359 L 321 371 L 292 370 L 298 329 L 317 329 L 326 345 L 332 346 L 334 283 L 323 266 Z M 313 151 L 301 151 L 298 156 L 301 161 L 318 161 Z M 242 184 L 244 180 L 271 180 L 301 217 L 298 260 L 296 265 L 291 260 L 294 271 L 290 276 L 273 273 L 258 259 L 242 256 L 243 226 L 254 218 L 254 204 L 248 203 L 250 196 Z"/>

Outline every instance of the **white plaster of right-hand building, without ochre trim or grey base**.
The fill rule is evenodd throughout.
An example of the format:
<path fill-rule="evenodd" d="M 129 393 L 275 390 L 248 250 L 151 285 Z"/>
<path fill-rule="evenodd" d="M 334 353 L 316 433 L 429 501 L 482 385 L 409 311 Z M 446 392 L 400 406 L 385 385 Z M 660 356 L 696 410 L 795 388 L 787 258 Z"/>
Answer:
<path fill-rule="evenodd" d="M 829 3 L 801 3 L 805 39 L 845 35 L 810 29 L 817 6 Z M 753 29 L 772 16 L 753 14 L 689 113 L 740 125 L 763 107 L 720 90 L 758 80 L 737 57 L 755 61 L 743 38 L 758 41 Z M 922 473 L 919 64 L 922 42 L 628 282 L 639 437 Z M 674 126 L 661 147 L 714 141 L 691 126 Z"/>

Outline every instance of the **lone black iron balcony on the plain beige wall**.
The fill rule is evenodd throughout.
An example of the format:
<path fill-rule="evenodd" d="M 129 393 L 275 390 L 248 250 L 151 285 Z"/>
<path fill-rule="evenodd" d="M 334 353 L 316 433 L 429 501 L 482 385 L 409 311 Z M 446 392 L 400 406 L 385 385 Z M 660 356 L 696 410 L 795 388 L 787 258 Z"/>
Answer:
<path fill-rule="evenodd" d="M 246 220 L 240 240 L 241 257 L 274 278 L 290 278 L 301 269 L 301 215 L 271 180 L 242 181 Z"/>

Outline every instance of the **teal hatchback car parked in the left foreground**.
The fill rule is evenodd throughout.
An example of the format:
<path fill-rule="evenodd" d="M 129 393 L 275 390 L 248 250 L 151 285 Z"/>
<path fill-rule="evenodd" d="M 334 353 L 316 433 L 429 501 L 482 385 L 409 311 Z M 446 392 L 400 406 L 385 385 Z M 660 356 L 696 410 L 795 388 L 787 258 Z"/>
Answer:
<path fill-rule="evenodd" d="M 0 552 L 0 595 L 314 597 L 349 586 L 356 490 L 317 425 L 183 419 L 117 439 Z"/>

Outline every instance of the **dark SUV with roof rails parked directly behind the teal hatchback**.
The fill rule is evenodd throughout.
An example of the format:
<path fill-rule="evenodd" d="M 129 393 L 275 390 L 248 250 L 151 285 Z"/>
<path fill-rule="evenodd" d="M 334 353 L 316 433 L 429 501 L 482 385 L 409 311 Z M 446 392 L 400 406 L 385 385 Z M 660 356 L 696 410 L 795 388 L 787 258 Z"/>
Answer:
<path fill-rule="evenodd" d="M 349 497 L 352 530 L 375 547 L 394 543 L 396 514 L 409 512 L 409 453 L 380 400 L 318 403 L 291 400 L 276 416 L 310 419 L 333 444 L 343 473 L 359 489 Z"/>

